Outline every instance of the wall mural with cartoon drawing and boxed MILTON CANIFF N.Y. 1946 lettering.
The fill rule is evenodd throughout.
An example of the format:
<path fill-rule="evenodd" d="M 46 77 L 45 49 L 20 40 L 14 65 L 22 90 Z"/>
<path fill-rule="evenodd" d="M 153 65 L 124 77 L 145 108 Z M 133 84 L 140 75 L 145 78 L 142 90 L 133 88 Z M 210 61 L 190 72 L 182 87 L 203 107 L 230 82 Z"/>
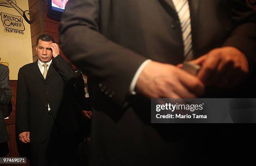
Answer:
<path fill-rule="evenodd" d="M 17 33 L 20 35 L 24 34 L 25 26 L 23 24 L 23 18 L 30 24 L 29 21 L 29 11 L 28 10 L 21 10 L 20 7 L 17 6 L 17 3 L 15 0 L 0 0 L 0 6 L 4 7 L 12 7 L 14 8 L 18 13 L 20 13 L 20 16 L 12 15 L 9 13 L 1 12 L 1 20 L 4 27 L 4 32 L 8 33 Z"/>

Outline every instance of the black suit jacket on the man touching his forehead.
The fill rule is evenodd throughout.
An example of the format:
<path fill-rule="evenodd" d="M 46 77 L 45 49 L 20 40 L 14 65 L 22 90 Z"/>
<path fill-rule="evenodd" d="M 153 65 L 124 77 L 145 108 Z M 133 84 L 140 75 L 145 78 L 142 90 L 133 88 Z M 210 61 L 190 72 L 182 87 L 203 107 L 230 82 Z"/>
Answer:
<path fill-rule="evenodd" d="M 78 129 L 69 102 L 70 88 L 76 75 L 69 64 L 58 55 L 52 59 L 46 79 L 38 63 L 21 67 L 18 73 L 16 127 L 17 133 L 30 131 L 32 143 L 43 142 L 48 130 L 49 103 L 54 117 L 54 129 L 61 133 L 72 133 Z"/>

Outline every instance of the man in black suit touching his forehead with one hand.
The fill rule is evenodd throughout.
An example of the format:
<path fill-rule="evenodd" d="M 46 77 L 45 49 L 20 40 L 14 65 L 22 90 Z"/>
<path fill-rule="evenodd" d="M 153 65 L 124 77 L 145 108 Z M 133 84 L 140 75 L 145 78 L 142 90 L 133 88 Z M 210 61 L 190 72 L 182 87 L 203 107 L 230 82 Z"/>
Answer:
<path fill-rule="evenodd" d="M 20 141 L 30 142 L 33 165 L 72 165 L 78 125 L 70 87 L 77 77 L 51 36 L 39 36 L 36 51 L 38 61 L 18 73 L 17 133 Z"/>

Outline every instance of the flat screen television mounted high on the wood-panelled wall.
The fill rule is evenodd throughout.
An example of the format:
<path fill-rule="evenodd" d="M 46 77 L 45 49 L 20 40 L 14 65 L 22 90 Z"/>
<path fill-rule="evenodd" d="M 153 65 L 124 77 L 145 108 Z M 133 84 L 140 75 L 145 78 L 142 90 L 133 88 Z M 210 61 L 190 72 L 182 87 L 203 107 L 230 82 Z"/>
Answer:
<path fill-rule="evenodd" d="M 68 0 L 47 0 L 47 17 L 60 21 Z"/>

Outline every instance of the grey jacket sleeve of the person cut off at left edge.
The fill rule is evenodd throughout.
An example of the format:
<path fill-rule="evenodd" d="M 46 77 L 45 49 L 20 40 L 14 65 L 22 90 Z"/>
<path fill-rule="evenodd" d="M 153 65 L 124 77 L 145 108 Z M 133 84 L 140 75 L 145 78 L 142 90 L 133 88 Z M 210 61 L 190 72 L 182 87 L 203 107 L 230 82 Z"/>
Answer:
<path fill-rule="evenodd" d="M 9 69 L 4 65 L 1 65 L 0 69 L 2 70 L 0 70 L 0 104 L 6 105 L 12 97 L 9 86 Z"/>

